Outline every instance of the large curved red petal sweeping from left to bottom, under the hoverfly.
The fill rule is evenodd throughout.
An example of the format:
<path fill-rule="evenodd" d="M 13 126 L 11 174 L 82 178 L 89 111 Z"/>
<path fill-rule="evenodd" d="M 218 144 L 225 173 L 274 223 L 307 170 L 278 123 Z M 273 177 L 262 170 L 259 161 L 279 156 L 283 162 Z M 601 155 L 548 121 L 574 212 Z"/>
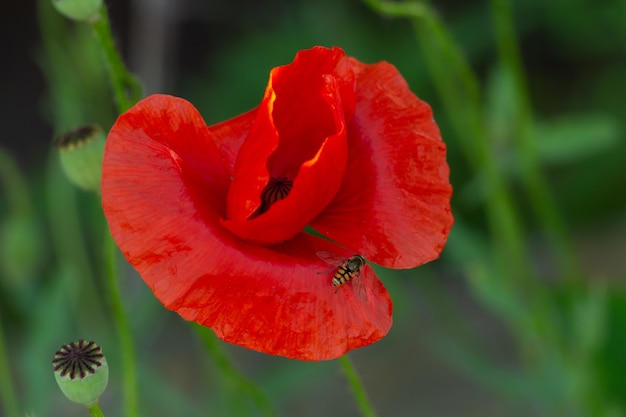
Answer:
<path fill-rule="evenodd" d="M 331 285 L 333 271 L 315 253 L 349 254 L 330 242 L 300 233 L 266 248 L 220 226 L 230 174 L 220 150 L 232 151 L 231 135 L 245 131 L 247 120 L 233 119 L 232 130 L 209 129 L 191 104 L 168 96 L 149 97 L 120 116 L 102 179 L 118 246 L 167 308 L 225 341 L 323 360 L 382 338 L 392 305 L 369 266 L 361 272 L 364 302 L 350 283 L 337 292 Z"/>

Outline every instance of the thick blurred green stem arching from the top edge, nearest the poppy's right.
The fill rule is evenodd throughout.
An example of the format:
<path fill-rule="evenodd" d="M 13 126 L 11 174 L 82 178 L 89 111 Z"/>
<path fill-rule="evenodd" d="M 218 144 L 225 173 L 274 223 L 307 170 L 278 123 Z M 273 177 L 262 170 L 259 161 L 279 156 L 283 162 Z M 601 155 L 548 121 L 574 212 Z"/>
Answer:
<path fill-rule="evenodd" d="M 516 334 L 522 338 L 525 353 L 532 356 L 540 340 L 558 339 L 553 326 L 556 319 L 546 289 L 541 282 L 533 279 L 536 274 L 528 261 L 531 256 L 525 245 L 526 236 L 520 216 L 506 177 L 493 157 L 478 77 L 439 16 L 426 2 L 365 1 L 382 14 L 408 18 L 413 24 L 459 144 L 475 175 L 485 184 L 486 219 L 493 240 L 493 259 L 497 262 L 497 272 L 487 277 L 497 279 L 497 284 L 503 287 L 506 294 L 535 313 L 507 317 Z M 485 282 L 481 285 L 490 284 Z"/>

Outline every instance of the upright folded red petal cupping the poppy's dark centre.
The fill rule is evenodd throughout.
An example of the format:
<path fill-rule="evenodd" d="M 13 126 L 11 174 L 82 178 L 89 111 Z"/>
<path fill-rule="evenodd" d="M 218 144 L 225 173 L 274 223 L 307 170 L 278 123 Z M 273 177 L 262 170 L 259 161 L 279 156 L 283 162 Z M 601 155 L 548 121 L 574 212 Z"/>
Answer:
<path fill-rule="evenodd" d="M 351 115 L 353 103 L 354 75 L 340 49 L 303 51 L 275 68 L 239 149 L 222 224 L 264 245 L 299 233 L 341 185 L 348 153 L 344 111 Z M 257 215 L 270 178 L 287 178 L 293 188 Z"/>

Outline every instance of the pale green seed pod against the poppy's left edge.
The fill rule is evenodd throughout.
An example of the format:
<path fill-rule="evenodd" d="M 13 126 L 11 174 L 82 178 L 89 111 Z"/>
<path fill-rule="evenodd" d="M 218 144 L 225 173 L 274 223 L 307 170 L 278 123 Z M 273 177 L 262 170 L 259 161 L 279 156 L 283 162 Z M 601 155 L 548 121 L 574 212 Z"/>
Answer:
<path fill-rule="evenodd" d="M 85 190 L 100 190 L 104 142 L 104 133 L 97 125 L 81 126 L 55 140 L 70 182 Z"/>

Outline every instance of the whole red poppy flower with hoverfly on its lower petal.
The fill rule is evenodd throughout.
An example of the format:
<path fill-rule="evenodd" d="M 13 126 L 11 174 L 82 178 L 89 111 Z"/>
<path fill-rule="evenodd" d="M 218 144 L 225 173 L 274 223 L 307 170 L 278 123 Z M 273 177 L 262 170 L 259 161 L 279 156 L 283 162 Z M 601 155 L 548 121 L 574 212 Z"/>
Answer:
<path fill-rule="evenodd" d="M 335 287 L 337 262 L 318 253 L 389 268 L 435 259 L 450 196 L 430 107 L 392 65 L 339 48 L 299 52 L 272 70 L 257 108 L 214 126 L 183 99 L 142 100 L 111 129 L 102 175 L 111 233 L 165 307 L 227 342 L 305 360 L 391 327 L 373 269 Z"/>

